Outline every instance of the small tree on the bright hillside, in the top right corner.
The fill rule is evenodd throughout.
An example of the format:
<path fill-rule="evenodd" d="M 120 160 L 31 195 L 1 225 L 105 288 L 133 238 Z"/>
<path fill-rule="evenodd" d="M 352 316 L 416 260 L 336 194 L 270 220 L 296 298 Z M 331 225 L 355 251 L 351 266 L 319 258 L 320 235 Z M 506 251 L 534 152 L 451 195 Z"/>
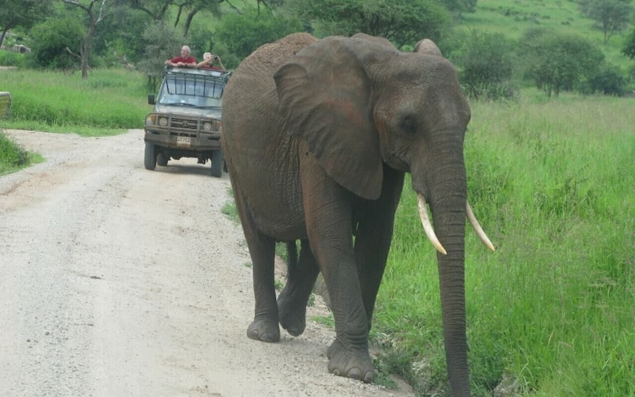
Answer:
<path fill-rule="evenodd" d="M 631 0 L 580 0 L 580 11 L 598 23 L 604 43 L 627 28 L 633 10 Z"/>

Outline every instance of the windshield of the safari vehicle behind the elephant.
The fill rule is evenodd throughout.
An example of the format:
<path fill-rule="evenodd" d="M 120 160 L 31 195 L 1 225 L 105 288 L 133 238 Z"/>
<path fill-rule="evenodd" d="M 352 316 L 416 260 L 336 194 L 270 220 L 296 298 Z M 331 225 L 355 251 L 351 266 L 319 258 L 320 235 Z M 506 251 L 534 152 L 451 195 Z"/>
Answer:
<path fill-rule="evenodd" d="M 220 108 L 225 79 L 197 74 L 171 74 L 165 77 L 157 103 L 169 106 Z"/>

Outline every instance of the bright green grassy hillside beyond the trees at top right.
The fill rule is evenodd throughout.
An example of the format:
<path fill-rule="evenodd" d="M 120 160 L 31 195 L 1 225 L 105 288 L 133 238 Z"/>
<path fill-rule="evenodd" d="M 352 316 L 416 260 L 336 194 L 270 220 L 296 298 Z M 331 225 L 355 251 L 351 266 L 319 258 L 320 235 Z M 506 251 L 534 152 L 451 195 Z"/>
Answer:
<path fill-rule="evenodd" d="M 476 13 L 464 14 L 459 29 L 497 32 L 518 39 L 530 27 L 580 35 L 602 48 L 606 59 L 622 70 L 634 65 L 620 53 L 624 34 L 615 34 L 604 44 L 603 32 L 571 0 L 478 0 Z"/>

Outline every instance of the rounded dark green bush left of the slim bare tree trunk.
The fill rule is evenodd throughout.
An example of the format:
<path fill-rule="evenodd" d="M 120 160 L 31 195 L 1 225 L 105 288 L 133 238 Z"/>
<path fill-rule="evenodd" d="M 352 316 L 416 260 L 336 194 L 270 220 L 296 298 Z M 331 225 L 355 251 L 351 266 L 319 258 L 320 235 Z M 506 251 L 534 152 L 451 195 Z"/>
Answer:
<path fill-rule="evenodd" d="M 77 18 L 51 18 L 35 25 L 30 32 L 31 37 L 37 37 L 31 45 L 33 65 L 54 69 L 79 67 L 79 60 L 66 48 L 79 48 L 84 35 L 84 27 Z"/>

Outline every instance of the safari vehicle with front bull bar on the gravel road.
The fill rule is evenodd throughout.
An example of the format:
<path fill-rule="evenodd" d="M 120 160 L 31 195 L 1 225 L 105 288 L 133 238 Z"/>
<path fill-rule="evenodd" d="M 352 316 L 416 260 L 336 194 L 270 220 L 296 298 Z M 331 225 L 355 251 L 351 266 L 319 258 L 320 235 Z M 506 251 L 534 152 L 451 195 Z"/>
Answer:
<path fill-rule="evenodd" d="M 148 95 L 154 110 L 145 117 L 146 169 L 195 157 L 199 164 L 211 160 L 211 175 L 222 175 L 221 98 L 228 77 L 220 70 L 166 66 L 156 100 Z"/>

